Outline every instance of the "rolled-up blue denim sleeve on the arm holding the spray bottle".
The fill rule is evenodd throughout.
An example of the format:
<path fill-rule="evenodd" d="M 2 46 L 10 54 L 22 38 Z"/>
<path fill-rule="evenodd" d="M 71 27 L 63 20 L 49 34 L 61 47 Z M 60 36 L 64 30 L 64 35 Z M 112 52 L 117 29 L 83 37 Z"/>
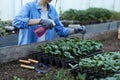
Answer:
<path fill-rule="evenodd" d="M 12 21 L 12 25 L 14 27 L 24 29 L 28 28 L 28 21 L 29 21 L 29 11 L 30 11 L 30 6 L 29 4 L 26 4 L 16 15 Z"/>

